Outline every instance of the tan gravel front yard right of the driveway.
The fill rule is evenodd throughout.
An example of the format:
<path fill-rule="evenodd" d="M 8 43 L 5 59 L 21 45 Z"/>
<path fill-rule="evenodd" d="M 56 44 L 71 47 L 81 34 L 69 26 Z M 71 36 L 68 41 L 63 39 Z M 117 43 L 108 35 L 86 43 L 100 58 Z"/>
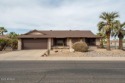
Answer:
<path fill-rule="evenodd" d="M 52 52 L 49 57 L 125 57 L 125 51 L 112 49 L 107 51 L 106 49 L 95 49 L 89 52 Z"/>

